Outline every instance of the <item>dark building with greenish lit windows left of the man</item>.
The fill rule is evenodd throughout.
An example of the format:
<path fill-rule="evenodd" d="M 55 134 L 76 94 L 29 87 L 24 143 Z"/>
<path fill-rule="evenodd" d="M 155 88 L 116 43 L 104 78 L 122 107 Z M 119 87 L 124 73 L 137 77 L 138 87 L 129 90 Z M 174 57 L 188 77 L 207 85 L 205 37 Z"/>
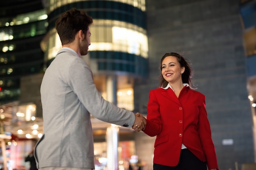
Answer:
<path fill-rule="evenodd" d="M 43 68 L 40 41 L 47 15 L 41 0 L 9 0 L 0 6 L 0 105 L 18 100 L 20 78 Z"/>

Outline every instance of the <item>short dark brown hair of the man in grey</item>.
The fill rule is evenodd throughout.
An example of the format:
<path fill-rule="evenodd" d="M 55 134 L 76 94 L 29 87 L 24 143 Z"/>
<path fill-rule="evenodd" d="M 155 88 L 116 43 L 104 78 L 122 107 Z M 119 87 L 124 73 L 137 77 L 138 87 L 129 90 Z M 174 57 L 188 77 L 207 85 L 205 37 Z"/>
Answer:
<path fill-rule="evenodd" d="M 80 30 L 86 35 L 92 22 L 92 17 L 82 9 L 72 8 L 61 14 L 61 17 L 55 23 L 61 44 L 65 45 L 74 41 L 76 33 Z"/>

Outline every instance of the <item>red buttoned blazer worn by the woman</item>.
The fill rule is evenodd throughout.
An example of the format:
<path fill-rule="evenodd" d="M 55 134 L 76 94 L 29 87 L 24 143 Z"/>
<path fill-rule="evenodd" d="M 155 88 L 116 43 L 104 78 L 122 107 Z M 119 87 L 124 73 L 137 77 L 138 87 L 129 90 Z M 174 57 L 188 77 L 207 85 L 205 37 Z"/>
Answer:
<path fill-rule="evenodd" d="M 205 96 L 184 86 L 179 98 L 171 88 L 149 92 L 144 133 L 157 136 L 153 162 L 177 166 L 182 143 L 209 169 L 217 168 L 215 147 L 205 107 Z"/>

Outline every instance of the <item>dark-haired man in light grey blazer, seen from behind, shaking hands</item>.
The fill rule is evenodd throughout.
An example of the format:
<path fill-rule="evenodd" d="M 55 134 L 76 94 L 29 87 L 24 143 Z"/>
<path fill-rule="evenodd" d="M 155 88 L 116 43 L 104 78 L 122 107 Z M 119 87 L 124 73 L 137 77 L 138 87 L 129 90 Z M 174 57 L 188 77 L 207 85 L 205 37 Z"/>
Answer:
<path fill-rule="evenodd" d="M 97 91 L 88 54 L 92 18 L 71 9 L 56 21 L 63 48 L 45 71 L 40 88 L 44 134 L 35 148 L 39 170 L 92 170 L 94 146 L 90 114 L 104 122 L 141 131 L 144 117 L 120 109 Z"/>

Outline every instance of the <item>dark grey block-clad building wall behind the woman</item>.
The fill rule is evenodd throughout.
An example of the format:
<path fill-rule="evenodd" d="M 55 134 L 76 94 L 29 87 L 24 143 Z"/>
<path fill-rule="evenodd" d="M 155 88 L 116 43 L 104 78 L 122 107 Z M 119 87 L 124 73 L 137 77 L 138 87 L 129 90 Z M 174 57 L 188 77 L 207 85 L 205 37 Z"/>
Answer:
<path fill-rule="evenodd" d="M 135 85 L 135 107 L 146 114 L 148 92 L 157 88 L 159 61 L 178 52 L 192 63 L 198 91 L 206 96 L 219 168 L 254 162 L 252 116 L 237 0 L 147 0 L 149 76 Z M 225 139 L 233 144 L 223 145 Z M 231 140 L 229 140 L 231 141 Z M 153 143 L 150 145 L 153 148 Z M 141 147 L 141 146 L 138 146 Z M 152 149 L 141 153 L 144 159 Z M 171 154 L 171 153 L 170 153 Z"/>

